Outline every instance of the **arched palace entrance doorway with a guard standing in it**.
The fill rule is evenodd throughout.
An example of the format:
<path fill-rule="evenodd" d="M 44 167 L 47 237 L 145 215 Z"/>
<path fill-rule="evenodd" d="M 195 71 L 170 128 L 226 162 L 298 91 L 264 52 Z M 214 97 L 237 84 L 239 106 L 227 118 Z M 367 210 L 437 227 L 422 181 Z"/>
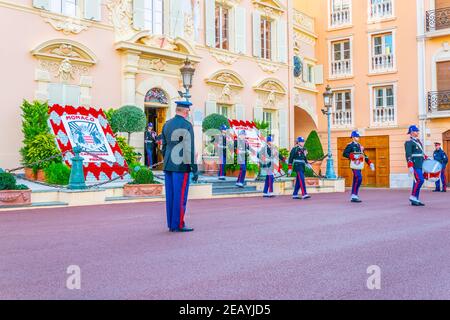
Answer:
<path fill-rule="evenodd" d="M 147 123 L 153 123 L 153 129 L 158 135 L 162 133 L 162 128 L 167 119 L 167 110 L 169 108 L 169 97 L 161 88 L 150 89 L 144 98 L 145 115 Z M 157 148 L 156 148 L 157 149 Z M 145 150 L 145 158 L 147 151 Z M 153 151 L 153 163 L 160 162 L 162 155 L 157 150 Z"/>

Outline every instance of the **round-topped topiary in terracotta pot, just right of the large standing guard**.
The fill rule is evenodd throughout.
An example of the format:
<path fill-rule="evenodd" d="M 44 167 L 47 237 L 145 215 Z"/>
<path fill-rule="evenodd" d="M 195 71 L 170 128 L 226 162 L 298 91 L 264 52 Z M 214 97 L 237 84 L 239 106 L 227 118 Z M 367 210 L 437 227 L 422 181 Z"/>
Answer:
<path fill-rule="evenodd" d="M 213 113 L 203 119 L 202 131 L 207 141 L 203 150 L 203 168 L 206 175 L 215 176 L 219 172 L 219 157 L 216 155 L 214 136 L 220 132 L 220 127 L 226 125 L 229 127 L 228 119 L 221 114 Z"/>

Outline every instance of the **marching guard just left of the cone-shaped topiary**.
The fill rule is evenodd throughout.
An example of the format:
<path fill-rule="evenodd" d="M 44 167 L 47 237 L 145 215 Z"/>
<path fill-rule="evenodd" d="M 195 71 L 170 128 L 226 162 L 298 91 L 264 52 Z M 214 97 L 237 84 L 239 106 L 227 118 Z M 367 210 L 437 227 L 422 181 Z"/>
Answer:
<path fill-rule="evenodd" d="M 288 176 L 292 175 L 292 170 L 297 173 L 295 179 L 295 187 L 294 194 L 292 195 L 293 199 L 309 199 L 311 196 L 306 191 L 306 183 L 305 183 L 305 170 L 306 167 L 311 169 L 311 165 L 308 163 L 307 159 L 308 150 L 305 149 L 305 139 L 303 137 L 297 138 L 296 146 L 291 150 L 289 154 L 289 170 Z M 302 197 L 298 195 L 299 191 L 302 191 Z"/>

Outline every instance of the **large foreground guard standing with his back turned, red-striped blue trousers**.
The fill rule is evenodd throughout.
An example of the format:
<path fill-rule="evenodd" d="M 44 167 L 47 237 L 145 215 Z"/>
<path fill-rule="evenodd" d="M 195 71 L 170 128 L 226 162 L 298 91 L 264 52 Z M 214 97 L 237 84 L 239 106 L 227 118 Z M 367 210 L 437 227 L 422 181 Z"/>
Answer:
<path fill-rule="evenodd" d="M 194 129 L 186 120 L 191 102 L 176 102 L 176 115 L 167 121 L 162 131 L 162 153 L 164 155 L 164 177 L 166 188 L 167 226 L 171 232 L 190 232 L 184 222 L 189 176 L 198 181 L 195 164 Z"/>

